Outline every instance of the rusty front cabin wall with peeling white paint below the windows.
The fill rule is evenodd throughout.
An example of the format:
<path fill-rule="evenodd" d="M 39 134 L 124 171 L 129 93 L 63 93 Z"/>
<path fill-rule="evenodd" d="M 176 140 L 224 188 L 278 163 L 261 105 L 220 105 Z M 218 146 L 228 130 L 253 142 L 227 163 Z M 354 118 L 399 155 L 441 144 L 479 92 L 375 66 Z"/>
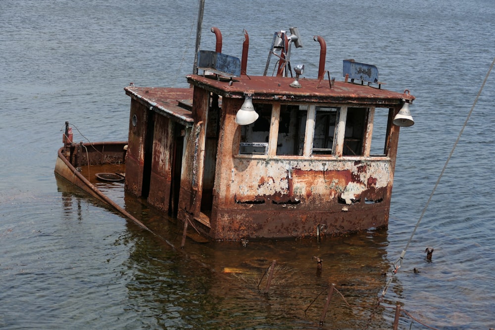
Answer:
<path fill-rule="evenodd" d="M 388 224 L 398 127 L 389 110 L 388 157 L 239 156 L 235 115 L 243 100 L 223 98 L 210 236 L 312 236 Z"/>

